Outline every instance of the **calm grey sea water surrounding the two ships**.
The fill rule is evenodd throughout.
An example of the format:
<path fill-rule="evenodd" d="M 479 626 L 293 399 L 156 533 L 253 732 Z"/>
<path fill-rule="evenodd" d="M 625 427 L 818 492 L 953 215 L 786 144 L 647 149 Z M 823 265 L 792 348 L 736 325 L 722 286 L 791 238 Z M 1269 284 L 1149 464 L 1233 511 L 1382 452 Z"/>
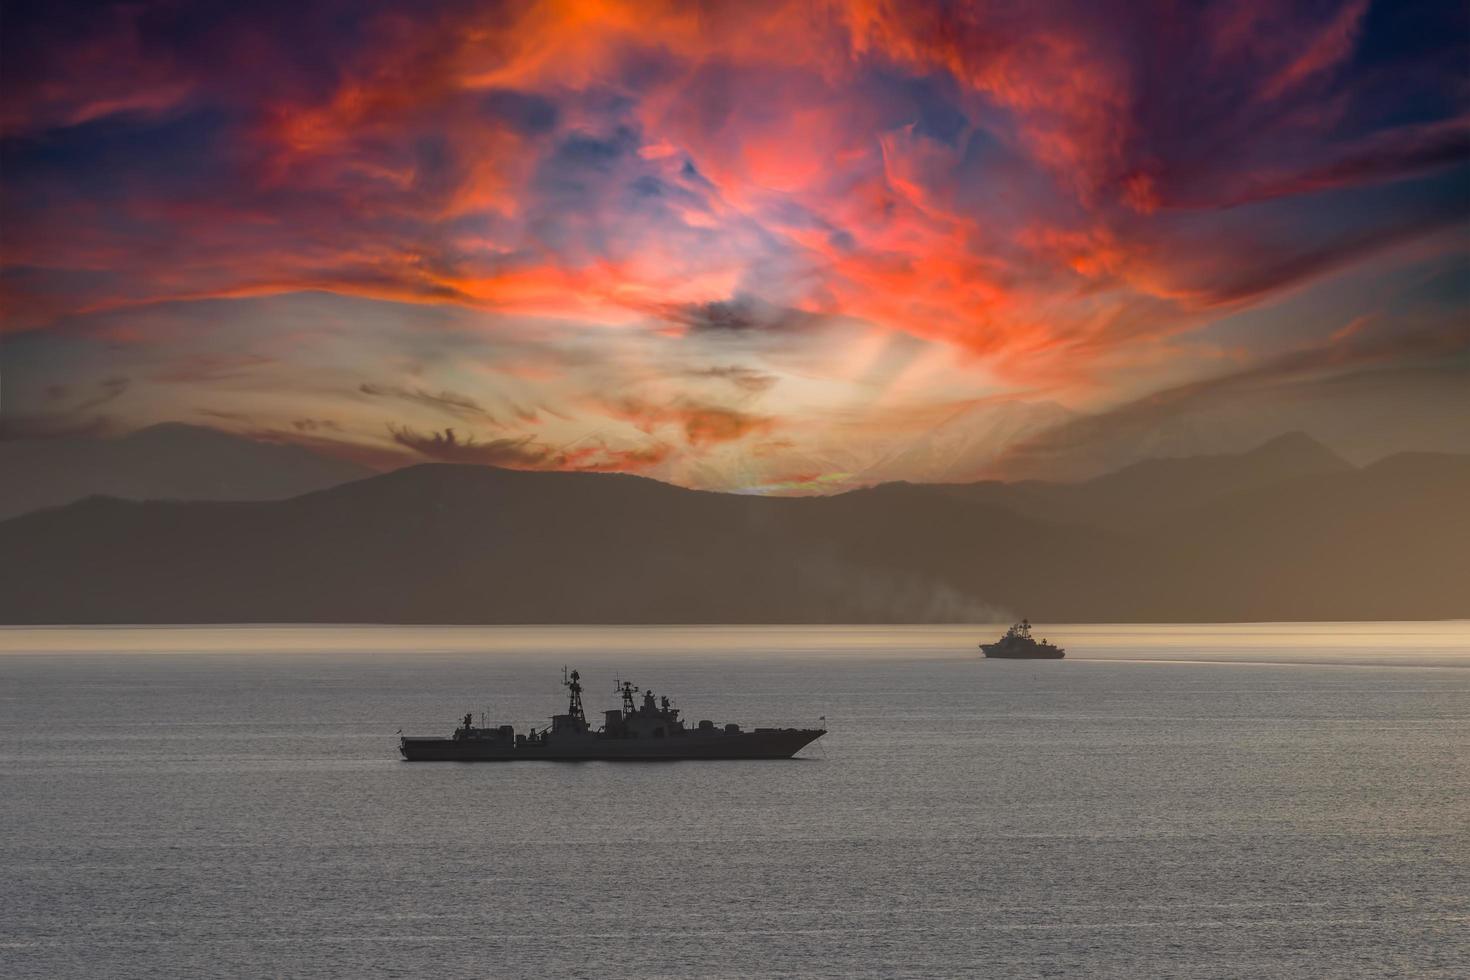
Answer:
<path fill-rule="evenodd" d="M 1470 624 L 0 629 L 4 977 L 1461 977 Z M 563 664 L 789 763 L 400 763 Z"/>

